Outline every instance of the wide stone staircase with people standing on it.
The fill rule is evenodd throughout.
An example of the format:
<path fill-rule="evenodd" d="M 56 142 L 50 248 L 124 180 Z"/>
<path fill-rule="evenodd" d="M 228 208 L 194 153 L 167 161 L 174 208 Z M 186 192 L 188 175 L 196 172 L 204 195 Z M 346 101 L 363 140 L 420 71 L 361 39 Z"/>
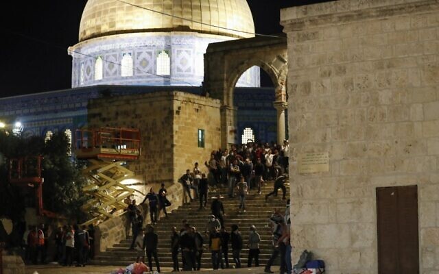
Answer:
<path fill-rule="evenodd" d="M 282 200 L 282 190 L 279 190 L 278 196 L 271 196 L 268 200 L 265 200 L 265 194 L 271 192 L 273 189 L 273 182 L 266 181 L 266 184 L 262 188 L 262 194 L 257 195 L 255 190 L 250 191 L 250 195 L 246 199 L 246 213 L 239 213 L 239 200 L 237 197 L 230 199 L 227 197 L 225 188 L 220 188 L 216 191 L 209 193 L 209 199 L 207 201 L 206 209 L 199 210 L 199 202 L 193 201 L 192 203 L 180 206 L 180 208 L 173 210 L 171 214 L 168 214 L 168 219 L 162 218 L 158 221 L 157 225 L 154 225 L 154 231 L 158 234 L 158 258 L 160 260 L 161 267 L 172 267 L 171 251 L 170 251 L 170 238 L 171 228 L 177 227 L 179 230 L 182 227 L 182 220 L 187 219 L 190 225 L 197 228 L 197 231 L 203 235 L 204 238 L 204 253 L 202 256 L 202 268 L 211 268 L 211 253 L 208 249 L 209 238 L 204 235 L 204 229 L 208 217 L 211 215 L 210 204 L 211 197 L 222 194 L 224 197 L 222 202 L 224 204 L 224 210 L 226 216 L 224 216 L 224 225 L 228 232 L 230 232 L 230 225 L 239 225 L 239 231 L 244 240 L 244 248 L 241 251 L 241 264 L 246 266 L 248 258 L 248 235 L 250 233 L 250 225 L 255 225 L 257 231 L 261 236 L 261 244 L 259 248 L 261 253 L 259 255 L 259 264 L 265 265 L 270 258 L 272 252 L 272 228 L 270 227 L 270 216 L 274 212 L 275 208 L 285 212 L 286 200 Z M 289 184 L 287 184 L 287 199 L 289 197 Z M 149 220 L 147 220 L 149 221 Z M 95 256 L 92 264 L 98 265 L 117 265 L 126 266 L 131 264 L 136 259 L 136 251 L 128 250 L 130 247 L 132 238 L 122 240 L 114 247 L 107 249 L 106 252 L 99 253 Z M 179 263 L 181 266 L 181 256 L 179 256 Z M 233 266 L 232 249 L 229 242 L 229 264 Z"/>

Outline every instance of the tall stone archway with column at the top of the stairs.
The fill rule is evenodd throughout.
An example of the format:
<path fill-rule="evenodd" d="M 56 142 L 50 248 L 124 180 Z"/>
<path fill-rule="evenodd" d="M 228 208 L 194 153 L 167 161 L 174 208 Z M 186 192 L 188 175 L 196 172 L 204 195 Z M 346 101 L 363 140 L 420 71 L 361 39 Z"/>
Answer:
<path fill-rule="evenodd" d="M 223 147 L 235 139 L 236 108 L 233 92 L 239 77 L 252 66 L 263 69 L 274 84 L 277 110 L 278 142 L 285 139 L 287 108 L 287 40 L 286 38 L 255 37 L 209 45 L 204 55 L 203 90 L 221 100 L 221 143 Z"/>

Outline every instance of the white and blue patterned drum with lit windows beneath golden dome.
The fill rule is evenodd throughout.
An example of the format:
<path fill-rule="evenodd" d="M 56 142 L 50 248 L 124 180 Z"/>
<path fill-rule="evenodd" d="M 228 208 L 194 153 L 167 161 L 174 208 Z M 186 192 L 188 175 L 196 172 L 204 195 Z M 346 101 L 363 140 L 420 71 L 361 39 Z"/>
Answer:
<path fill-rule="evenodd" d="M 69 48 L 73 57 L 72 88 L 94 85 L 201 86 L 207 46 L 231 39 L 193 32 L 161 32 L 117 34 L 85 40 Z M 242 75 L 237 86 L 259 87 L 259 73 L 259 67 L 251 68 Z"/>

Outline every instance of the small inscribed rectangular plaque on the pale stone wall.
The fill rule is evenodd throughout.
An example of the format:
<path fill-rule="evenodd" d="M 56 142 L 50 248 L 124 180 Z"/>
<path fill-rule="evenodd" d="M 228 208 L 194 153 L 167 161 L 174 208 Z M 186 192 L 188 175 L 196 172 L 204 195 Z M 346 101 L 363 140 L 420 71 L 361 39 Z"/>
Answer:
<path fill-rule="evenodd" d="M 316 173 L 329 171 L 329 153 L 313 152 L 298 155 L 299 173 Z"/>

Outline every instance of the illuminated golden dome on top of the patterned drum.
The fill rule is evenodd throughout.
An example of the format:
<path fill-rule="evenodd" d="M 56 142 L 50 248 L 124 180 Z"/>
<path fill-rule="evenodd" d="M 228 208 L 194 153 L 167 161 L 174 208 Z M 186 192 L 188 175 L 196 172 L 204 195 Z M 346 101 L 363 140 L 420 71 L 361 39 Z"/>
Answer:
<path fill-rule="evenodd" d="M 123 1 L 126 3 L 88 0 L 81 18 L 80 41 L 134 32 L 199 32 L 235 38 L 254 36 L 252 12 L 246 0 Z"/>

